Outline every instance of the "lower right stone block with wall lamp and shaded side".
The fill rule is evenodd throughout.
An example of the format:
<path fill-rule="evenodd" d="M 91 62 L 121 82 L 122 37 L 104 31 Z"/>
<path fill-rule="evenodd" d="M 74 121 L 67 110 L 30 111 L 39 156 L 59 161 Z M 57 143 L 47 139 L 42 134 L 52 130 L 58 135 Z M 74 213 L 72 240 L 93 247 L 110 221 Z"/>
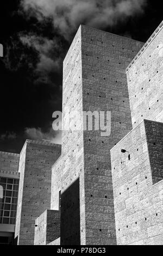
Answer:
<path fill-rule="evenodd" d="M 152 143 L 162 142 L 162 131 L 162 123 L 144 120 L 111 149 L 118 245 L 163 244 L 163 166 Z"/>

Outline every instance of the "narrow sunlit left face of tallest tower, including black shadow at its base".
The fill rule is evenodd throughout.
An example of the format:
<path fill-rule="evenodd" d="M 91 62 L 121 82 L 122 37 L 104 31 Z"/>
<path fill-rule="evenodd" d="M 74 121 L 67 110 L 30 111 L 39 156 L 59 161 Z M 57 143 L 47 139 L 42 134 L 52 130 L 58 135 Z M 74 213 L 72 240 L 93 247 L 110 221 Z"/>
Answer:
<path fill-rule="evenodd" d="M 85 244 L 81 40 L 81 27 L 79 27 L 65 57 L 63 68 L 61 245 Z M 77 131 L 67 129 L 66 125 L 67 116 L 73 111 L 78 111 L 79 114 L 80 127 Z M 72 198 L 68 196 L 69 192 Z"/>

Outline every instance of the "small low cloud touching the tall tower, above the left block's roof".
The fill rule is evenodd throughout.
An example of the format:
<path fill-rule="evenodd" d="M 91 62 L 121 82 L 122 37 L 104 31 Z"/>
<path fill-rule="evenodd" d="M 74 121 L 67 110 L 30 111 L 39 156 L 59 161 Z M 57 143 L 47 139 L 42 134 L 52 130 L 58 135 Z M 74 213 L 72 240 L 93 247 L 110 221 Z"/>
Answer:
<path fill-rule="evenodd" d="M 61 144 L 61 131 L 54 131 L 52 128 L 43 132 L 41 128 L 26 128 L 25 135 L 29 139 L 45 139 L 56 144 Z"/>

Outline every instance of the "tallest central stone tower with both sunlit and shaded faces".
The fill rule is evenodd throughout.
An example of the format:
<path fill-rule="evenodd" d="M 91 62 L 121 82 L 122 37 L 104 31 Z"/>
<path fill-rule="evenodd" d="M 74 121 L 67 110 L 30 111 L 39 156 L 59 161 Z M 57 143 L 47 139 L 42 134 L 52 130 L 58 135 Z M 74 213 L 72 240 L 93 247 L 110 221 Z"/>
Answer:
<path fill-rule="evenodd" d="M 53 167 L 51 200 L 57 210 L 61 190 L 61 245 L 116 243 L 110 149 L 132 127 L 126 68 L 142 45 L 80 26 L 66 55 L 62 156 Z M 73 110 L 81 126 L 66 131 Z M 83 111 L 111 111 L 111 136 L 83 132 Z"/>

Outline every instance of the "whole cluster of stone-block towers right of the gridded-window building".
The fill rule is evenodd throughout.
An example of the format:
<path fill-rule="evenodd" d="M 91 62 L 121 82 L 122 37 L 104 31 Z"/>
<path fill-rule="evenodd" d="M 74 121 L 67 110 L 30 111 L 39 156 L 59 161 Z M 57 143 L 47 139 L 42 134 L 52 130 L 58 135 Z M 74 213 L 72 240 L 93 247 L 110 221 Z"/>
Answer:
<path fill-rule="evenodd" d="M 162 27 L 146 44 L 79 27 L 64 60 L 62 143 L 27 141 L 17 156 L 15 243 L 163 244 Z M 106 134 L 96 128 L 107 111 Z M 78 129 L 67 129 L 74 112 Z"/>

